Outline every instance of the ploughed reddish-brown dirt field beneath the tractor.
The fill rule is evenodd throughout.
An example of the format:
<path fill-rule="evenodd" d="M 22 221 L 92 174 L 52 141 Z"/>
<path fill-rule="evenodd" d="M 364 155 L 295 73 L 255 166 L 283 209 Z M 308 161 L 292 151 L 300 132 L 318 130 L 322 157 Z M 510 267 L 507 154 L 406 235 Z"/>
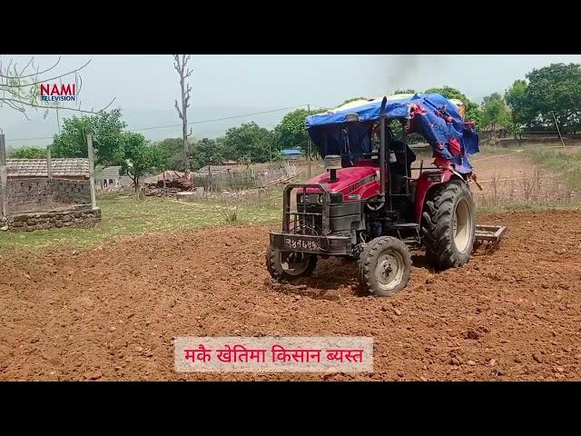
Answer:
<path fill-rule="evenodd" d="M 306 289 L 264 268 L 272 226 L 0 257 L 0 380 L 581 380 L 581 212 L 507 213 L 497 251 L 361 297 L 354 265 Z M 182 374 L 181 335 L 363 335 L 371 374 Z"/>

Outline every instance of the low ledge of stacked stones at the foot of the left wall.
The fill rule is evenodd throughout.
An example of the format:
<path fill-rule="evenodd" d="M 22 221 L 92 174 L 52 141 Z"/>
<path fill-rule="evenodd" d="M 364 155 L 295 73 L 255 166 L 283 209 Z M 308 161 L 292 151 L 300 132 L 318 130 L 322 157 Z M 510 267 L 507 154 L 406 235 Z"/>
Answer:
<path fill-rule="evenodd" d="M 60 227 L 93 227 L 99 222 L 101 209 L 92 209 L 91 204 L 79 204 L 66 210 L 18 213 L 0 217 L 0 230 L 32 232 Z"/>

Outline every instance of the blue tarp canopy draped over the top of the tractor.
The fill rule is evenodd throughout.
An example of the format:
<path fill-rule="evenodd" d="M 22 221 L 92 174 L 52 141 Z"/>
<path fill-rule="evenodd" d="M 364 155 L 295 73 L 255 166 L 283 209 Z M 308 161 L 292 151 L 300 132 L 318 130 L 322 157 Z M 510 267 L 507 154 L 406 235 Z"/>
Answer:
<path fill-rule="evenodd" d="M 321 156 L 349 155 L 351 162 L 371 152 L 371 131 L 379 121 L 383 97 L 344 104 L 324 114 L 307 117 L 310 139 Z M 465 123 L 457 104 L 440 94 L 409 94 L 388 97 L 388 120 L 409 119 L 409 132 L 421 134 L 434 155 L 455 164 L 458 173 L 470 173 L 469 156 L 477 154 L 478 134 Z"/>

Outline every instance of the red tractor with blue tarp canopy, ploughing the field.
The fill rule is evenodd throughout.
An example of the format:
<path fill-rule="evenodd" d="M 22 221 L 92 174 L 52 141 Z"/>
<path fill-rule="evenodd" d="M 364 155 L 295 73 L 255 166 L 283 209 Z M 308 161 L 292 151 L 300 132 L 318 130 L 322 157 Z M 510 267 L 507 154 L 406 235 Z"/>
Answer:
<path fill-rule="evenodd" d="M 403 126 L 400 140 L 393 121 Z M 350 257 L 359 261 L 362 290 L 388 296 L 409 281 L 409 248 L 423 247 L 428 262 L 444 270 L 467 263 L 476 239 L 498 241 L 506 230 L 477 232 L 468 155 L 478 152 L 478 134 L 441 95 L 355 102 L 311 115 L 307 128 L 327 171 L 285 187 L 282 231 L 271 232 L 266 255 L 273 278 L 308 276 L 319 257 Z M 412 132 L 432 144 L 436 158 L 415 179 L 406 141 Z"/>

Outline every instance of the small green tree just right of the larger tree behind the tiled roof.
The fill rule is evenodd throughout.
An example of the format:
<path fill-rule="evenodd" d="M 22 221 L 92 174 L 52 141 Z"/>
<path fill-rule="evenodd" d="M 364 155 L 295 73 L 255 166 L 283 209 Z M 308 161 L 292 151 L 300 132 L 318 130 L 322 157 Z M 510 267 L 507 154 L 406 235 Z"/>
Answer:
<path fill-rule="evenodd" d="M 123 161 L 120 174 L 129 176 L 133 180 L 135 191 L 137 191 L 139 180 L 143 175 L 159 168 L 159 149 L 148 144 L 143 134 L 123 132 L 121 139 Z"/>

